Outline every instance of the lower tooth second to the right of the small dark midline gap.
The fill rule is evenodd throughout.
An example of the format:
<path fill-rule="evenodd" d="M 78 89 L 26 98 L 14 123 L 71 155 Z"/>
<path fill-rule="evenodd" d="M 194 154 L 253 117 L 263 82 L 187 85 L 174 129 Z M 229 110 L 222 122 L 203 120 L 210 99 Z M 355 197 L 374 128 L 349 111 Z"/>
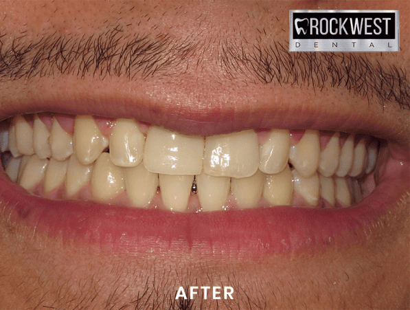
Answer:
<path fill-rule="evenodd" d="M 255 208 L 258 206 L 257 203 L 262 196 L 265 180 L 266 175 L 259 169 L 251 177 L 232 178 L 231 190 L 239 208 Z"/>

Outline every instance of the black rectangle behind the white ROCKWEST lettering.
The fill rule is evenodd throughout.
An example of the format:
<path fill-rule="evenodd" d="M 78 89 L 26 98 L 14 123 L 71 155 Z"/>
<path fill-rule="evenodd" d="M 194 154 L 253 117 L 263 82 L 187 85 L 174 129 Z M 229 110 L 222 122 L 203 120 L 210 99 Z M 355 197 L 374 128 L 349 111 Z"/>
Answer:
<path fill-rule="evenodd" d="M 306 34 L 304 32 L 300 32 L 300 34 L 297 34 L 296 27 L 295 27 L 295 20 L 296 19 L 308 19 L 308 25 L 306 25 L 306 20 L 305 21 L 299 21 L 298 26 L 303 27 L 304 30 L 307 30 Z M 318 34 L 316 34 L 315 28 L 313 28 L 312 34 L 310 34 L 310 19 L 317 19 L 317 29 Z M 328 34 L 321 34 L 320 32 L 320 21 L 321 19 L 327 19 L 328 20 Z M 337 34 L 330 34 L 330 19 L 337 19 L 337 24 L 332 21 L 332 32 L 335 32 L 337 29 Z M 347 19 L 347 20 L 346 20 Z M 352 27 L 350 23 L 350 19 L 352 19 L 353 25 L 356 23 L 356 19 L 358 22 L 358 25 L 361 25 L 361 34 L 358 34 L 356 31 L 356 34 L 352 34 Z M 371 32 L 372 34 L 365 34 L 365 19 L 371 19 L 367 21 L 367 25 L 371 25 L 371 27 L 367 27 L 367 32 Z M 374 19 L 380 19 L 381 22 L 376 21 L 376 24 L 381 28 L 381 33 L 380 34 L 374 34 L 374 32 L 378 33 L 380 32 L 380 28 L 376 27 L 374 24 Z M 383 19 L 389 19 L 388 21 L 385 21 Z M 345 34 L 345 31 L 342 29 L 341 33 L 339 33 L 339 25 L 340 21 L 343 24 L 344 23 L 344 29 L 348 34 Z M 323 32 L 326 27 L 326 22 L 323 21 Z M 385 27 L 387 23 L 387 29 L 388 33 L 385 33 Z M 307 26 L 307 27 L 306 27 Z M 293 38 L 312 38 L 312 39 L 318 39 L 318 38 L 378 38 L 378 39 L 383 39 L 383 38 L 389 38 L 389 39 L 394 39 L 396 38 L 396 15 L 394 12 L 293 12 Z"/>

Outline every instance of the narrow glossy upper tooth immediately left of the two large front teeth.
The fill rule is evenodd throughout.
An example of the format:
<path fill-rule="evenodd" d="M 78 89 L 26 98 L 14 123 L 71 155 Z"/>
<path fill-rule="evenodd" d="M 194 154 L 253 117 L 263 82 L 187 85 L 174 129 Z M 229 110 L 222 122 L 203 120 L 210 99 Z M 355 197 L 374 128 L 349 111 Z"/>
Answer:
<path fill-rule="evenodd" d="M 145 137 L 135 120 L 120 118 L 110 137 L 110 158 L 117 166 L 135 167 L 144 155 Z"/>

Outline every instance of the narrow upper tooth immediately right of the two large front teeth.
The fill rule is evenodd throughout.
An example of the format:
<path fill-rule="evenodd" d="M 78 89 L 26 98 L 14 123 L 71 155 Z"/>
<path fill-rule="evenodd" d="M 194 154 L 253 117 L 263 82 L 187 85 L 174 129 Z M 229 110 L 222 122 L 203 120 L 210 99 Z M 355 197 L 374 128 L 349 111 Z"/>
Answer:
<path fill-rule="evenodd" d="M 289 131 L 272 129 L 269 139 L 259 146 L 259 169 L 263 173 L 280 173 L 289 159 Z"/>

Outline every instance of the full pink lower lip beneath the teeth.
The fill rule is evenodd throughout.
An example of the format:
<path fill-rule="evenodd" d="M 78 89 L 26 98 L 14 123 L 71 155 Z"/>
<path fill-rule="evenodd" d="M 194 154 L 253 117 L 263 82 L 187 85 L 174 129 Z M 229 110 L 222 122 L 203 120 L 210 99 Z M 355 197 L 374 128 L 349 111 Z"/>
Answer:
<path fill-rule="evenodd" d="M 374 227 L 391 208 L 391 201 L 407 192 L 408 171 L 408 162 L 394 171 L 389 169 L 372 195 L 352 208 L 341 209 L 283 206 L 182 214 L 34 197 L 4 174 L 0 188 L 3 212 L 10 221 L 49 237 L 93 243 L 116 253 L 197 252 L 238 257 L 364 242 L 366 236 L 360 232 Z"/>

